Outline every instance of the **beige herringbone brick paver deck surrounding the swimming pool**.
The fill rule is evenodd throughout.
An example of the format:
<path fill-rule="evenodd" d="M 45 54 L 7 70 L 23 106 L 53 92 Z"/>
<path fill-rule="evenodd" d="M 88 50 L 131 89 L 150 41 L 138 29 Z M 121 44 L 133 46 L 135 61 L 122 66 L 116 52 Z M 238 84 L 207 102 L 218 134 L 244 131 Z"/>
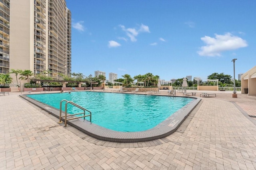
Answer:
<path fill-rule="evenodd" d="M 0 96 L 0 169 L 256 169 L 256 96 L 210 93 L 171 135 L 114 143 L 64 127 L 10 92 Z"/>

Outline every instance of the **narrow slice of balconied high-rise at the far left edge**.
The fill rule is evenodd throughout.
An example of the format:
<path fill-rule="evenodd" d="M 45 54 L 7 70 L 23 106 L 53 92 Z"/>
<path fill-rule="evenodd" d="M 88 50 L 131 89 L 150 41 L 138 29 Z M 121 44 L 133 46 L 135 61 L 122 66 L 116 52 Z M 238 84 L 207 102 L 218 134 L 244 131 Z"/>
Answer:
<path fill-rule="evenodd" d="M 10 69 L 10 0 L 0 1 L 0 74 Z"/>

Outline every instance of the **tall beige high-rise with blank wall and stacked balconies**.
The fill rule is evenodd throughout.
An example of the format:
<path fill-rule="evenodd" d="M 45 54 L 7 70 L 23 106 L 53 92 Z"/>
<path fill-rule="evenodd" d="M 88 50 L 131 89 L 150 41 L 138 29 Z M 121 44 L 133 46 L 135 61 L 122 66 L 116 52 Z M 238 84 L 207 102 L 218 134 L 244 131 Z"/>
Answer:
<path fill-rule="evenodd" d="M 71 13 L 66 0 L 14 0 L 10 4 L 10 68 L 50 76 L 71 72 Z"/>

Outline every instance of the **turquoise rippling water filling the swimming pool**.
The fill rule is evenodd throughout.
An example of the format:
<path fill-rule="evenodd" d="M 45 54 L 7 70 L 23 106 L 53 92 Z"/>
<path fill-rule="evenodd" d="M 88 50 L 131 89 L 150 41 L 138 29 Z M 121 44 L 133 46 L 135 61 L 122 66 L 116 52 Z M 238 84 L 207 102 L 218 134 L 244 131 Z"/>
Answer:
<path fill-rule="evenodd" d="M 32 94 L 28 97 L 56 109 L 60 109 L 61 100 L 71 100 L 92 112 L 92 123 L 122 132 L 151 129 L 194 100 L 181 97 L 104 92 Z M 62 110 L 64 109 L 65 102 L 62 103 Z M 68 104 L 68 113 L 81 113 L 81 110 Z M 86 119 L 89 120 L 89 117 Z"/>

